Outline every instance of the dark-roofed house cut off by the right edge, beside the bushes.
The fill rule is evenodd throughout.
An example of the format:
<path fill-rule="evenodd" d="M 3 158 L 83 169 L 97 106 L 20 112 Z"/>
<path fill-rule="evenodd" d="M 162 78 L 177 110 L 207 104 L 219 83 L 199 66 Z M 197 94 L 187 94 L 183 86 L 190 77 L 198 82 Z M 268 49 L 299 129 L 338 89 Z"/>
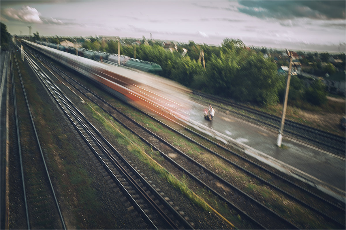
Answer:
<path fill-rule="evenodd" d="M 342 93 L 346 95 L 346 71 L 326 75 L 324 83 L 329 92 Z"/>

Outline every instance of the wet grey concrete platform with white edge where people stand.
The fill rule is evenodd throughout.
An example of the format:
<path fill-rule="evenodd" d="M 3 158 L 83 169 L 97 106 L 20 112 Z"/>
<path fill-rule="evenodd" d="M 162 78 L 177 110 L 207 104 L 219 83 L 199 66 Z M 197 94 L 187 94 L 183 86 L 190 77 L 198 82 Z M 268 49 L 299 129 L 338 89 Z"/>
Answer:
<path fill-rule="evenodd" d="M 191 104 L 187 119 L 189 125 L 345 202 L 345 158 L 295 141 L 284 134 L 279 148 L 276 145 L 277 132 L 218 111 L 210 122 L 203 118 L 203 108 L 206 107 Z"/>

